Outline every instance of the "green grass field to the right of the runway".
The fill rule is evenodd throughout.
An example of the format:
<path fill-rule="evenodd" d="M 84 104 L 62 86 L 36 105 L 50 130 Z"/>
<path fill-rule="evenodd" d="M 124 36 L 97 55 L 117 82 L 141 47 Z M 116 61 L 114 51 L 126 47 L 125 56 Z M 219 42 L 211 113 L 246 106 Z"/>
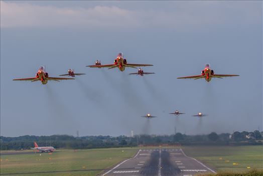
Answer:
<path fill-rule="evenodd" d="M 185 154 L 217 171 L 263 170 L 263 146 L 183 146 Z M 235 164 L 233 164 L 235 163 Z"/>

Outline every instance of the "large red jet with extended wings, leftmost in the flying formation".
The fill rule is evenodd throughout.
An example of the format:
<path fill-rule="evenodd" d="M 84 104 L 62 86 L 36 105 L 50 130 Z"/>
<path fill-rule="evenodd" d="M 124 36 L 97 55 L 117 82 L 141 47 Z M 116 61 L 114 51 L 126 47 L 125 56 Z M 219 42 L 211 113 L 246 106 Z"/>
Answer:
<path fill-rule="evenodd" d="M 45 72 L 45 67 L 41 66 L 36 74 L 36 77 L 29 77 L 29 78 L 21 78 L 21 79 L 13 79 L 13 80 L 31 80 L 31 82 L 35 82 L 40 80 L 42 84 L 48 83 L 48 80 L 65 80 L 65 79 L 74 79 L 74 78 L 64 78 L 64 77 L 49 77 L 48 73 Z"/>

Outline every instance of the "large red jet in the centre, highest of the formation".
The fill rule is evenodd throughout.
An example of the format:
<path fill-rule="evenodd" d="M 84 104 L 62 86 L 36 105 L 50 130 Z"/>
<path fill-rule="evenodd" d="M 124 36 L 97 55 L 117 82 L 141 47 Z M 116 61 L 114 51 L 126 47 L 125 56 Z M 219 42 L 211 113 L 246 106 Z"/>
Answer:
<path fill-rule="evenodd" d="M 127 60 L 123 58 L 122 53 L 118 53 L 116 59 L 114 60 L 114 64 L 108 64 L 108 65 L 89 65 L 88 67 L 91 68 L 102 68 L 102 67 L 109 67 L 108 69 L 111 68 L 116 68 L 118 67 L 120 71 L 124 71 L 125 67 L 131 67 L 131 68 L 137 68 L 137 66 L 153 66 L 150 64 L 130 64 L 127 63 Z"/>

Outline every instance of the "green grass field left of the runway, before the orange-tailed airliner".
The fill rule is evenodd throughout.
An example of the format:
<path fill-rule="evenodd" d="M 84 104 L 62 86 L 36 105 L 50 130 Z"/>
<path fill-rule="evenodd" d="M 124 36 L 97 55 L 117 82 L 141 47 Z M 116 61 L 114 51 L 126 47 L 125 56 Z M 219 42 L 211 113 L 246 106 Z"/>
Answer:
<path fill-rule="evenodd" d="M 137 148 L 110 148 L 88 150 L 57 150 L 49 153 L 16 154 L 1 156 L 1 175 L 5 173 L 66 171 L 55 173 L 31 173 L 23 175 L 96 175 L 104 168 L 136 154 Z M 85 169 L 98 169 L 88 171 Z M 13 174 L 12 174 L 13 175 Z M 18 175 L 18 174 L 14 174 Z"/>

